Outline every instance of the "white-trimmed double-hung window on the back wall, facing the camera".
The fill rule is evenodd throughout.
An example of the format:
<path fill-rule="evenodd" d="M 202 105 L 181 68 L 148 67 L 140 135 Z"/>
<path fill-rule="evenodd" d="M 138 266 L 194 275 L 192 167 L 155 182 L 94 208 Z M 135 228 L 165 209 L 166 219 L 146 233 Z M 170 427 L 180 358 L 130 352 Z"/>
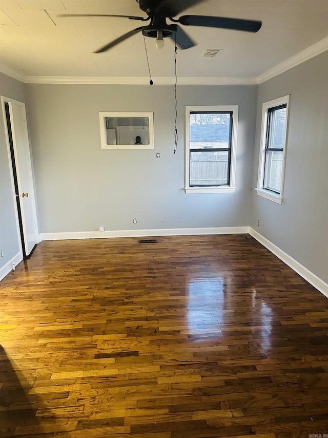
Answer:
<path fill-rule="evenodd" d="M 238 106 L 187 106 L 186 193 L 235 191 Z"/>

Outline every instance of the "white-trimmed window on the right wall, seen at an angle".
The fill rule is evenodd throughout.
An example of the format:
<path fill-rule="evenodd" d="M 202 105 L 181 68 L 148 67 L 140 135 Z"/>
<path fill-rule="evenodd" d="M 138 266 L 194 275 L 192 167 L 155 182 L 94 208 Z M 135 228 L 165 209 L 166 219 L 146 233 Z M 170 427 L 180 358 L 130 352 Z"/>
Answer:
<path fill-rule="evenodd" d="M 289 96 L 263 103 L 257 193 L 282 203 Z"/>

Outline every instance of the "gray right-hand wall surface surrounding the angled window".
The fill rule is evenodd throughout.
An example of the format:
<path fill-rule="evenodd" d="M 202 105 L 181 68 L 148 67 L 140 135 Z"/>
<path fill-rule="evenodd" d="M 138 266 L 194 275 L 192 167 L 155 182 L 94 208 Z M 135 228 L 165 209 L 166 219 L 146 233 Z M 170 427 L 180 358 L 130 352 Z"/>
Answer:
<path fill-rule="evenodd" d="M 328 51 L 258 87 L 253 187 L 262 103 L 290 94 L 281 205 L 253 191 L 251 226 L 328 282 Z M 259 219 L 260 225 L 256 225 Z"/>

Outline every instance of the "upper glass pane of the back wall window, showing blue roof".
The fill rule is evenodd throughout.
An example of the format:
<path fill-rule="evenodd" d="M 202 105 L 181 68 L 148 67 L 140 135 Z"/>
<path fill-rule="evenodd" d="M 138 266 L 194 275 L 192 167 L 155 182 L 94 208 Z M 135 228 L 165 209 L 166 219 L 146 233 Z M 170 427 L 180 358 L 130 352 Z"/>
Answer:
<path fill-rule="evenodd" d="M 231 112 L 191 112 L 190 149 L 230 147 Z"/>

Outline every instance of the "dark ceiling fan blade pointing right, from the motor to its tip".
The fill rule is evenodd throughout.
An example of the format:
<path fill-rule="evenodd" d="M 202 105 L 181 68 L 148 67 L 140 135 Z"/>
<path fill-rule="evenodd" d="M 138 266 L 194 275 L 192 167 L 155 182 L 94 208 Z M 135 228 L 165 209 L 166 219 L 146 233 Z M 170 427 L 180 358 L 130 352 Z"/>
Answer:
<path fill-rule="evenodd" d="M 212 17 L 206 15 L 182 15 L 178 22 L 185 26 L 217 27 L 223 29 L 244 30 L 246 32 L 257 32 L 262 26 L 262 22 L 260 21 Z"/>

